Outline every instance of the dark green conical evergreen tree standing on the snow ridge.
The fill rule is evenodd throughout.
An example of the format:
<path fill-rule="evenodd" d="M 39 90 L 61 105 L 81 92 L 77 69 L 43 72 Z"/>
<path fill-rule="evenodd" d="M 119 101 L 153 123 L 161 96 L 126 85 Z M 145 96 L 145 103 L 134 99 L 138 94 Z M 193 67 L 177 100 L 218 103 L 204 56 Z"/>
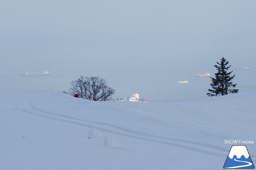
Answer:
<path fill-rule="evenodd" d="M 220 63 L 216 63 L 217 65 L 214 65 L 214 67 L 216 67 L 218 72 L 214 74 L 215 78 L 210 77 L 212 82 L 210 84 L 213 89 L 208 89 L 210 93 L 207 93 L 207 95 L 224 96 L 229 93 L 238 93 L 238 89 L 231 89 L 236 87 L 236 84 L 233 84 L 233 82 L 231 82 L 231 80 L 235 77 L 235 75 L 230 76 L 233 71 L 228 72 L 228 69 L 231 67 L 231 65 L 227 66 L 228 61 L 224 57 L 221 58 Z"/>

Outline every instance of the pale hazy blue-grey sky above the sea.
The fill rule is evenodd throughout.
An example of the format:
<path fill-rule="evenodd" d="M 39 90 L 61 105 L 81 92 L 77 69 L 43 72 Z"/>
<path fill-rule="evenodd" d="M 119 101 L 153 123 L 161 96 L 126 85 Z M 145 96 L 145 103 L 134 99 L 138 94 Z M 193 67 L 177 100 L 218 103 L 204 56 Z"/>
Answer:
<path fill-rule="evenodd" d="M 1 1 L 0 45 L 255 52 L 255 8 L 255 0 Z"/>

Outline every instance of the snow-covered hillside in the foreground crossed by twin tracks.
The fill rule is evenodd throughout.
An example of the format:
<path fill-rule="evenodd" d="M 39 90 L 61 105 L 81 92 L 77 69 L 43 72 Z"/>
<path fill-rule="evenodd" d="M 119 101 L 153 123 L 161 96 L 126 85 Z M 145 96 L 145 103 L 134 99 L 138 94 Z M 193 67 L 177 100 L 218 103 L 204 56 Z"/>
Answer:
<path fill-rule="evenodd" d="M 0 89 L 0 164 L 3 170 L 222 169 L 234 145 L 224 140 L 256 142 L 255 103 L 255 93 L 132 103 Z M 255 144 L 240 145 L 256 162 Z"/>

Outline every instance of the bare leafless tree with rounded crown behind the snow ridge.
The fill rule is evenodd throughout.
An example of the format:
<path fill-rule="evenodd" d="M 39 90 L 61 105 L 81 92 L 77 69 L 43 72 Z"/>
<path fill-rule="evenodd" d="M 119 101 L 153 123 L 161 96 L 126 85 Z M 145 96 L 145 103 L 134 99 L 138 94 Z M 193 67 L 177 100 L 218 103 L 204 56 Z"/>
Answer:
<path fill-rule="evenodd" d="M 108 101 L 115 93 L 115 90 L 108 87 L 105 79 L 97 77 L 83 77 L 80 76 L 78 80 L 70 83 L 69 95 L 74 96 L 78 94 L 80 98 L 89 99 L 93 101 Z"/>

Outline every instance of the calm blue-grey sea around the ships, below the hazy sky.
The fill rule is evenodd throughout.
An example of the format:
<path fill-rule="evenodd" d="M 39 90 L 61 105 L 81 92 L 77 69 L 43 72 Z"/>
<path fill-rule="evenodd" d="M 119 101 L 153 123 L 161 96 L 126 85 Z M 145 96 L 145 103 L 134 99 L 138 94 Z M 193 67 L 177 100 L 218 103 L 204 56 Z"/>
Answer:
<path fill-rule="evenodd" d="M 195 77 L 209 72 L 214 76 L 218 54 L 157 54 L 147 52 L 109 51 L 25 51 L 1 49 L 0 88 L 68 90 L 70 82 L 83 76 L 100 76 L 115 89 L 113 98 L 134 93 L 154 102 L 178 102 L 207 97 L 210 77 Z M 225 57 L 225 56 L 224 56 Z M 240 93 L 256 92 L 254 60 L 229 57 L 229 71 L 234 70 L 234 83 Z M 50 75 L 21 76 L 26 71 L 45 71 Z M 188 80 L 189 83 L 177 83 Z"/>

